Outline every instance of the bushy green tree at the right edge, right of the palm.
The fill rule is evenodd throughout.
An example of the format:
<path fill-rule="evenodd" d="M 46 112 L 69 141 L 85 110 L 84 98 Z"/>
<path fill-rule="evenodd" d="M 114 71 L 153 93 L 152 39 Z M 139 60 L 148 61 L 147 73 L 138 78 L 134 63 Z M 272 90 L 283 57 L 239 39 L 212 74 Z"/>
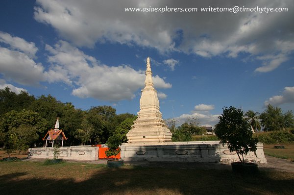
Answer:
<path fill-rule="evenodd" d="M 268 105 L 267 109 L 260 115 L 261 123 L 265 131 L 277 131 L 294 126 L 292 111 L 283 114 L 282 109 Z"/>

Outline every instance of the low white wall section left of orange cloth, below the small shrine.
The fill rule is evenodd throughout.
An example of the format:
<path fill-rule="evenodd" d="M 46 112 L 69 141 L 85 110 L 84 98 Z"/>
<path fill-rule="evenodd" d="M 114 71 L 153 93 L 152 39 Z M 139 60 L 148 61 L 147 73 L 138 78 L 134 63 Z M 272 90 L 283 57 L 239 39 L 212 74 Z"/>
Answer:
<path fill-rule="evenodd" d="M 60 147 L 58 157 L 65 160 L 98 160 L 98 149 L 91 146 Z M 30 158 L 54 158 L 52 147 L 34 147 L 28 151 Z"/>

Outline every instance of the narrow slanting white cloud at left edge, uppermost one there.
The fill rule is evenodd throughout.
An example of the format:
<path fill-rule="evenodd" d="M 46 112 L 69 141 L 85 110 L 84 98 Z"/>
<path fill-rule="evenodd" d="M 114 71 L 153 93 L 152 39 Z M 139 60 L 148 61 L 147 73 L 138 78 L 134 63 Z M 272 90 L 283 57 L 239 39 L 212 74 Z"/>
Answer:
<path fill-rule="evenodd" d="M 35 44 L 30 42 L 28 43 L 24 39 L 20 37 L 12 37 L 10 34 L 6 32 L 0 31 L 0 42 L 10 45 L 12 49 L 19 50 L 24 52 L 29 57 L 35 57 L 35 54 L 38 50 Z"/>

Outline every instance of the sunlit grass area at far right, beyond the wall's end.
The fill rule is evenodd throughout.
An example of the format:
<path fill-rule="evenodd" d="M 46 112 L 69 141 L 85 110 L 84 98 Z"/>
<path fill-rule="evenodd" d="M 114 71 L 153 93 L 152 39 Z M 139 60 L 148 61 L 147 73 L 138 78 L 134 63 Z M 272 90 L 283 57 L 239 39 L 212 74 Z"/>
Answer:
<path fill-rule="evenodd" d="M 284 158 L 294 161 L 294 143 L 281 144 L 285 146 L 285 149 L 275 149 L 274 144 L 264 145 L 264 152 L 267 155 L 275 156 L 278 158 Z"/>

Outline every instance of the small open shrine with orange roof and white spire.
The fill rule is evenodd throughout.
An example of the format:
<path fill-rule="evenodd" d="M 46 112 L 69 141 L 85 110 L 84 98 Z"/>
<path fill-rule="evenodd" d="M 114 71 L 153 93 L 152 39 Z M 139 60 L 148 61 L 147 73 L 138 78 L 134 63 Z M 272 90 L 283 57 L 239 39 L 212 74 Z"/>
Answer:
<path fill-rule="evenodd" d="M 46 140 L 46 144 L 45 147 L 47 147 L 48 144 L 48 140 L 49 143 L 52 143 L 52 146 L 54 145 L 54 141 L 57 140 L 61 140 L 61 147 L 63 146 L 63 141 L 67 140 L 67 138 L 64 135 L 64 132 L 62 131 L 62 129 L 59 129 L 59 118 L 57 117 L 57 121 L 55 123 L 55 127 L 54 129 L 50 129 L 47 134 L 45 135 L 45 137 L 43 138 L 43 141 Z"/>

